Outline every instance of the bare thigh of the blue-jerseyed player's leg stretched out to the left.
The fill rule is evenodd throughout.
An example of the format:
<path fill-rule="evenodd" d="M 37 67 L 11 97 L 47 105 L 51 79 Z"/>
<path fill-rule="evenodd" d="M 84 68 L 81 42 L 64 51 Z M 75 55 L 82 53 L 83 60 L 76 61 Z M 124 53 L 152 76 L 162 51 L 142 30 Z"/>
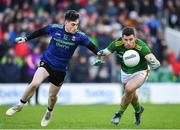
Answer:
<path fill-rule="evenodd" d="M 44 67 L 38 67 L 36 70 L 33 80 L 31 83 L 40 84 L 42 83 L 47 77 L 49 76 L 49 73 Z"/>

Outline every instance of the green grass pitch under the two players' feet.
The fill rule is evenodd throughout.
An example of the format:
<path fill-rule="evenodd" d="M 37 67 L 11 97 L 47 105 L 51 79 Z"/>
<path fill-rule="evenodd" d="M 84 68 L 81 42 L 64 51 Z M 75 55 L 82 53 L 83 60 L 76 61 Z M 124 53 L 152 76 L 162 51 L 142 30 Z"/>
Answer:
<path fill-rule="evenodd" d="M 5 115 L 9 106 L 0 106 L 0 129 L 180 129 L 180 105 L 143 104 L 142 123 L 133 124 L 130 106 L 118 126 L 110 123 L 118 105 L 57 105 L 47 127 L 40 121 L 46 106 L 25 106 L 13 117 Z"/>

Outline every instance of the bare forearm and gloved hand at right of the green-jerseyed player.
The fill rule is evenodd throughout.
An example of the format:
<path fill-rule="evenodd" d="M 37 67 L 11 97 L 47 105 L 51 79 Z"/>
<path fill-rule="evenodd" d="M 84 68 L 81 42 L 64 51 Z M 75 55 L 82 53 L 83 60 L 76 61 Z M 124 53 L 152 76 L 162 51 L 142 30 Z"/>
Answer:
<path fill-rule="evenodd" d="M 161 65 L 160 62 L 156 59 L 156 57 L 152 53 L 146 55 L 145 58 L 152 69 L 157 69 L 160 67 Z"/>

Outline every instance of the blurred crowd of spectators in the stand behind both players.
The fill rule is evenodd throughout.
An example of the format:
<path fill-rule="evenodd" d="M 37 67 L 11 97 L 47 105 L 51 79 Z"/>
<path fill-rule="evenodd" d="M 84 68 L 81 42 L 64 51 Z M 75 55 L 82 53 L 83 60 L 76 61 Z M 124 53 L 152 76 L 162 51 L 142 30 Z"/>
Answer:
<path fill-rule="evenodd" d="M 15 38 L 50 23 L 63 24 L 64 12 L 81 14 L 80 30 L 100 49 L 121 36 L 124 26 L 134 26 L 160 60 L 148 82 L 180 82 L 180 54 L 175 55 L 164 37 L 165 27 L 180 30 L 180 0 L 0 0 L 0 83 L 27 83 L 38 66 L 49 37 L 25 44 Z M 96 57 L 79 47 L 69 65 L 66 82 L 120 82 L 118 57 L 94 67 Z"/>

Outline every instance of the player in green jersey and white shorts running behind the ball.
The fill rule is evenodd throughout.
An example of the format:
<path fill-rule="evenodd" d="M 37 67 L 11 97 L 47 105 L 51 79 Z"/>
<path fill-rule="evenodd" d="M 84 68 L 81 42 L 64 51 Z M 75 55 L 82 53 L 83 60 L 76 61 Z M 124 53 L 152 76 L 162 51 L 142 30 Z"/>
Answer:
<path fill-rule="evenodd" d="M 128 67 L 124 64 L 123 54 L 127 50 L 135 50 L 140 56 L 140 61 L 136 66 Z M 141 87 L 148 77 L 149 67 L 157 69 L 160 66 L 159 61 L 151 53 L 150 49 L 141 39 L 136 38 L 136 31 L 132 27 L 125 27 L 122 31 L 122 37 L 113 41 L 107 48 L 98 52 L 99 56 L 104 56 L 97 59 L 94 65 L 101 65 L 107 56 L 116 52 L 120 57 L 121 64 L 121 80 L 122 86 L 125 89 L 120 109 L 112 118 L 112 123 L 118 125 L 120 119 L 128 107 L 132 104 L 135 110 L 135 125 L 141 122 L 141 114 L 144 108 L 139 104 L 136 89 Z"/>

